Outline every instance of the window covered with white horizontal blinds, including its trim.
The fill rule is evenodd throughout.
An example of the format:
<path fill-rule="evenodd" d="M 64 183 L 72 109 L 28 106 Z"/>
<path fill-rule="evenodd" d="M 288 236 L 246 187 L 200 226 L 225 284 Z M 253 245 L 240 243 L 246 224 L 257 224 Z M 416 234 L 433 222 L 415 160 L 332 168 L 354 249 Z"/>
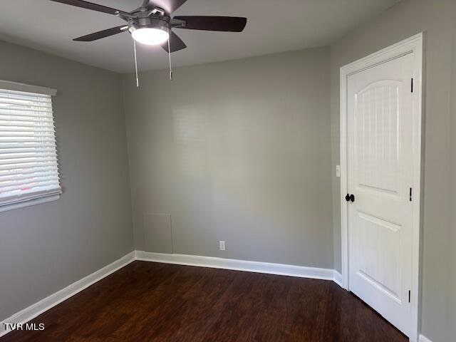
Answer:
<path fill-rule="evenodd" d="M 61 194 L 51 98 L 55 93 L 0 81 L 0 211 Z"/>

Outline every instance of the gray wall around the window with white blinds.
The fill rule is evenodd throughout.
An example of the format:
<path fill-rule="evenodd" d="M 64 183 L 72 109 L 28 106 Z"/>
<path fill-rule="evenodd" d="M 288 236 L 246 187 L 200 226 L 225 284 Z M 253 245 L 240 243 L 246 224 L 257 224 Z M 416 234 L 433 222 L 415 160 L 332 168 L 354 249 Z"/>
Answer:
<path fill-rule="evenodd" d="M 63 195 L 0 213 L 0 321 L 133 250 L 121 76 L 0 42 L 0 79 L 56 88 Z"/>

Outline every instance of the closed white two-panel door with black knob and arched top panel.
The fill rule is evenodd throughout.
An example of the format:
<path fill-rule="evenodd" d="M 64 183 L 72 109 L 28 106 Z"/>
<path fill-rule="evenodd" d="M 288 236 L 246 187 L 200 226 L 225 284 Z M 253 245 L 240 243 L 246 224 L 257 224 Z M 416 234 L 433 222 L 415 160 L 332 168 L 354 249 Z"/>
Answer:
<path fill-rule="evenodd" d="M 413 54 L 348 76 L 349 290 L 410 333 Z M 412 190 L 413 191 L 413 190 Z"/>

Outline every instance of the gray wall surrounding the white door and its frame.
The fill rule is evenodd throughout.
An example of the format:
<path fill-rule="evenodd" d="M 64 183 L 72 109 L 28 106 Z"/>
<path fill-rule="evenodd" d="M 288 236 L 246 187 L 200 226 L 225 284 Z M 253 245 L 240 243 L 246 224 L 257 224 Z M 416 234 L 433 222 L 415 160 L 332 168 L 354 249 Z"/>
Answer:
<path fill-rule="evenodd" d="M 447 342 L 454 338 L 448 334 L 447 303 L 456 296 L 449 276 L 455 268 L 450 261 L 450 229 L 454 226 L 449 186 L 452 0 L 404 0 L 331 46 L 333 167 L 339 162 L 339 68 L 420 31 L 427 33 L 422 331 L 433 342 Z M 340 270 L 339 186 L 339 179 L 333 177 L 334 263 Z"/>

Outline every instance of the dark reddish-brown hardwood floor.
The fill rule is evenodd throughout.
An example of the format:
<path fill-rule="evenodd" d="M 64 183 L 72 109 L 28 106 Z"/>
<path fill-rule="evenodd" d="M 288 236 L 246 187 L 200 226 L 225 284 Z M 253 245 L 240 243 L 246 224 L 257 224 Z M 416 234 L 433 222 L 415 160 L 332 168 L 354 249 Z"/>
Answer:
<path fill-rule="evenodd" d="M 405 342 L 332 281 L 134 261 L 7 341 Z"/>

